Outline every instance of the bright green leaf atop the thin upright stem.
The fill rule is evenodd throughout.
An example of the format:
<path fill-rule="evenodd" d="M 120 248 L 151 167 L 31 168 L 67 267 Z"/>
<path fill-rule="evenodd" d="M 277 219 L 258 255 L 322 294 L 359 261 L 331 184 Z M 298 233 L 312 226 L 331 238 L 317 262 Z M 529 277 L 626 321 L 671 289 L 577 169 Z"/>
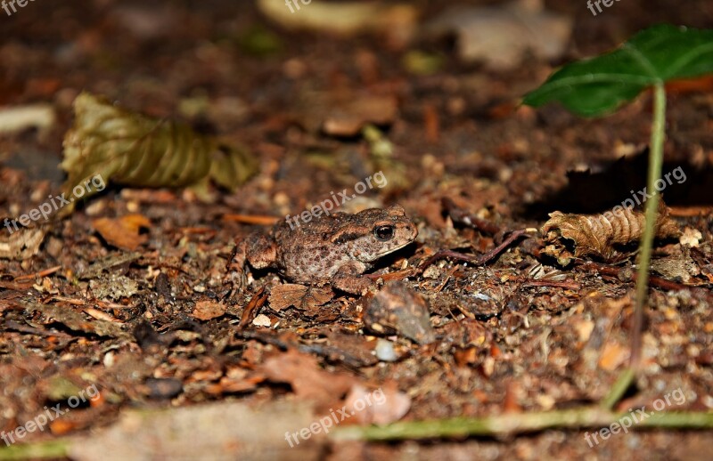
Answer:
<path fill-rule="evenodd" d="M 632 101 L 648 86 L 713 72 L 713 30 L 660 24 L 646 28 L 611 53 L 557 70 L 523 103 L 559 101 L 596 117 Z"/>

